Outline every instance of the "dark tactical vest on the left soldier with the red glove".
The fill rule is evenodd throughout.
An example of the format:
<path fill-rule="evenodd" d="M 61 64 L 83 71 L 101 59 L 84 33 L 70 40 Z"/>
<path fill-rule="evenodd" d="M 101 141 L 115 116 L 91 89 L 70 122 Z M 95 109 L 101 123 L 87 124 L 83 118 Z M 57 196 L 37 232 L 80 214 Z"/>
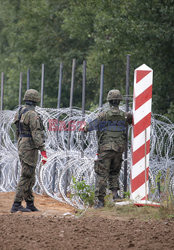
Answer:
<path fill-rule="evenodd" d="M 32 137 L 31 135 L 31 131 L 30 131 L 30 128 L 29 126 L 25 125 L 23 123 L 23 119 L 22 118 L 22 115 L 25 114 L 26 112 L 28 112 L 29 109 L 27 108 L 20 108 L 19 109 L 19 114 L 18 114 L 18 124 L 17 124 L 17 127 L 18 127 L 18 131 L 19 131 L 19 137 Z"/>

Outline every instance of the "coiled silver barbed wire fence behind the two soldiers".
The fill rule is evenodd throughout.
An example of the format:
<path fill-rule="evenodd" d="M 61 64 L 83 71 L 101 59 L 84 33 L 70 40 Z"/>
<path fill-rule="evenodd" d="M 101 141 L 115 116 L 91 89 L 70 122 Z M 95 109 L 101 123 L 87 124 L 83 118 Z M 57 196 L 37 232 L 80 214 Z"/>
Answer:
<path fill-rule="evenodd" d="M 107 105 L 104 106 L 106 108 Z M 125 106 L 121 109 L 125 110 Z M 40 158 L 36 167 L 36 183 L 34 191 L 36 193 L 46 193 L 50 197 L 68 203 L 77 208 L 84 208 L 84 203 L 80 197 L 73 196 L 73 180 L 85 180 L 87 185 L 95 184 L 94 158 L 97 153 L 96 131 L 84 134 L 80 131 L 80 123 L 84 118 L 86 121 L 95 119 L 101 109 L 94 112 L 87 111 L 85 117 L 82 116 L 78 108 L 36 108 L 43 119 L 46 133 L 46 150 L 48 161 L 41 166 Z M 14 191 L 20 177 L 20 161 L 17 151 L 17 140 L 15 137 L 15 127 L 13 125 L 14 111 L 1 111 L 0 121 L 0 191 Z M 76 129 L 70 132 L 68 129 L 60 130 L 58 122 L 65 125 L 72 121 Z M 131 128 L 129 133 L 131 133 Z M 83 141 L 83 143 L 82 143 Z M 150 150 L 150 187 L 155 187 L 156 176 L 161 174 L 161 179 L 166 181 L 166 172 L 169 169 L 170 176 L 174 172 L 174 124 L 162 116 L 152 115 L 151 126 L 151 150 Z M 124 164 L 120 171 L 120 186 L 123 193 Z M 128 150 L 128 186 L 130 185 L 131 166 L 131 145 Z M 174 190 L 174 177 L 170 179 L 170 190 Z M 172 193 L 173 194 L 173 193 Z M 156 191 L 150 195 L 151 199 L 159 199 Z"/>

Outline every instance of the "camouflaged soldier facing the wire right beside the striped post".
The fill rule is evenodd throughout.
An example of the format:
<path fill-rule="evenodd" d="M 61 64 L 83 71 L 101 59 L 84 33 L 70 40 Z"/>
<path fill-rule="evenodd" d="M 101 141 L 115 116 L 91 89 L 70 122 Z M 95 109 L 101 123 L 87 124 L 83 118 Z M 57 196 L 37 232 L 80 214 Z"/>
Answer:
<path fill-rule="evenodd" d="M 84 131 L 97 130 L 98 159 L 95 161 L 96 173 L 95 205 L 104 206 L 107 182 L 113 193 L 113 199 L 120 198 L 119 173 L 122 153 L 125 150 L 126 126 L 132 123 L 132 114 L 119 109 L 122 96 L 119 90 L 110 90 L 107 96 L 109 109 L 100 112 L 98 117 L 84 127 Z"/>

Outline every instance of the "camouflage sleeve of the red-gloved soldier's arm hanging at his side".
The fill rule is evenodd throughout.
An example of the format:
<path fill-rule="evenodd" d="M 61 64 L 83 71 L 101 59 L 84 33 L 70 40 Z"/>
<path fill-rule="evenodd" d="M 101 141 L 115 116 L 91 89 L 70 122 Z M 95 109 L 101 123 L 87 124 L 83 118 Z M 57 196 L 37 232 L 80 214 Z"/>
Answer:
<path fill-rule="evenodd" d="M 43 123 L 39 115 L 34 111 L 29 112 L 29 127 L 36 148 L 40 151 L 45 151 L 45 133 Z"/>

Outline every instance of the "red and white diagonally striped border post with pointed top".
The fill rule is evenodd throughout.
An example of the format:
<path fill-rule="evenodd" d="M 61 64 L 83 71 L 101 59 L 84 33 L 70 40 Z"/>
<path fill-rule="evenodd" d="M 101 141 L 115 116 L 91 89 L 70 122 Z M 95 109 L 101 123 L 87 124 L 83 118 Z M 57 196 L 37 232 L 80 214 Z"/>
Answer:
<path fill-rule="evenodd" d="M 143 64 L 134 71 L 131 199 L 148 198 L 153 70 Z"/>

